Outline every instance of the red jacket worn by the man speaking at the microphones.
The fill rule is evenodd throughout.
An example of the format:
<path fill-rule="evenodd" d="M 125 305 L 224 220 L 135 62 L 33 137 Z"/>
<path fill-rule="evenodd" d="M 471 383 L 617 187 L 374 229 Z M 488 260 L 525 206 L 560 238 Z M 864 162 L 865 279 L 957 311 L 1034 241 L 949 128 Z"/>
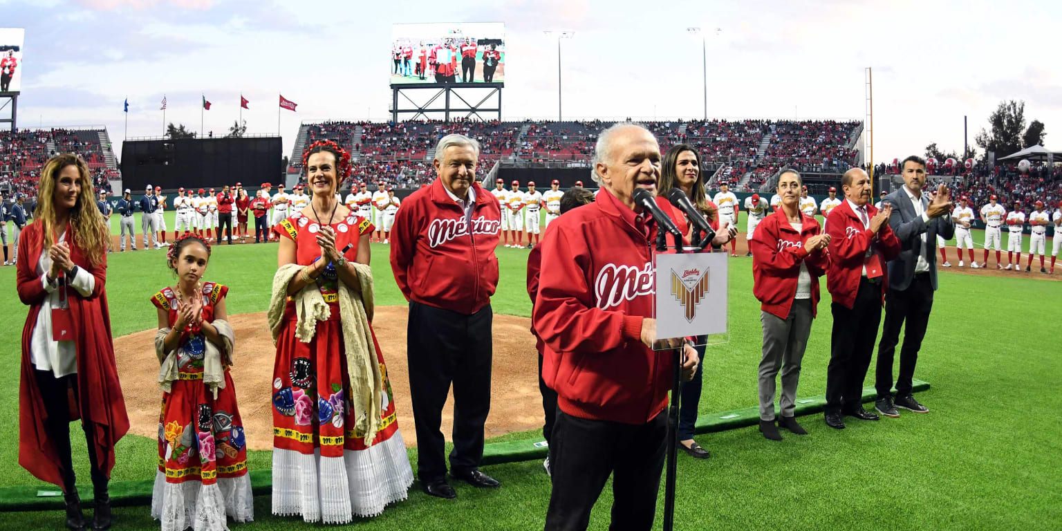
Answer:
<path fill-rule="evenodd" d="M 533 321 L 543 378 L 565 413 L 645 424 L 667 407 L 671 354 L 639 340 L 653 315 L 656 227 L 602 189 L 549 224 Z"/>

